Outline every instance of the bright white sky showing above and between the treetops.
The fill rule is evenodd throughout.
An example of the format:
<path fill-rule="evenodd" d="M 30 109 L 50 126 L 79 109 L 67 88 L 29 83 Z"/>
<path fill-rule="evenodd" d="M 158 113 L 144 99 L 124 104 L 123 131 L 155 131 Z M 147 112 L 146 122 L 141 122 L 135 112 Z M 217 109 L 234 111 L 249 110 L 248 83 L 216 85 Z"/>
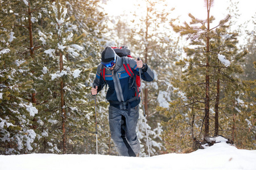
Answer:
<path fill-rule="evenodd" d="M 106 1 L 106 6 L 104 7 L 105 12 L 109 14 L 109 16 L 119 16 L 121 14 L 127 14 L 127 17 L 130 19 L 134 19 L 134 16 L 131 14 L 131 11 L 138 10 L 137 7 L 134 7 L 134 4 L 138 5 L 138 2 L 141 3 L 143 1 L 139 0 L 104 0 Z M 177 18 L 179 16 L 180 23 L 176 23 L 177 25 L 183 25 L 184 21 L 190 22 L 188 14 L 191 13 L 193 16 L 199 19 L 207 19 L 207 9 L 205 8 L 204 0 L 166 0 L 169 3 L 170 9 L 175 7 L 175 10 L 171 12 L 174 16 L 173 18 Z M 238 14 L 240 18 L 238 19 L 237 24 L 245 24 L 245 22 L 252 19 L 252 16 L 256 16 L 256 0 L 231 0 L 233 3 L 239 1 L 238 3 Z M 229 14 L 228 6 L 230 0 L 214 0 L 214 6 L 210 9 L 210 15 L 213 15 L 216 20 L 212 24 L 210 24 L 210 28 L 215 27 L 220 20 L 224 19 L 226 15 Z M 141 12 L 142 15 L 146 15 L 143 10 L 146 11 L 145 6 L 140 7 L 141 10 L 137 11 Z M 255 25 L 249 23 L 249 25 L 244 28 L 247 30 L 254 30 Z M 233 29 L 235 27 L 232 27 Z M 242 27 L 243 28 L 243 27 Z M 242 30 L 244 33 L 245 30 Z M 242 34 L 238 37 L 238 40 L 241 44 L 244 44 L 245 34 Z"/>

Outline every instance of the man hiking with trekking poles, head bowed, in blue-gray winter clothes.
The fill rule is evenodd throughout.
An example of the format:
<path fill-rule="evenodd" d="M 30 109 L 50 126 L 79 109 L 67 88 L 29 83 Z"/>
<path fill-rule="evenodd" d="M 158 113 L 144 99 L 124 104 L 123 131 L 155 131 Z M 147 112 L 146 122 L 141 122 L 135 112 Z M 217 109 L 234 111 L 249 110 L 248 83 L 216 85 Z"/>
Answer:
<path fill-rule="evenodd" d="M 126 47 L 124 50 L 127 51 Z M 141 78 L 150 82 L 154 80 L 154 73 L 142 60 L 118 55 L 110 46 L 102 51 L 91 93 L 97 95 L 105 85 L 109 86 L 106 100 L 110 103 L 109 126 L 115 147 L 121 156 L 139 156 L 141 147 L 136 126 L 141 99 L 139 77 L 136 78 L 136 75 L 139 75 L 141 69 Z"/>

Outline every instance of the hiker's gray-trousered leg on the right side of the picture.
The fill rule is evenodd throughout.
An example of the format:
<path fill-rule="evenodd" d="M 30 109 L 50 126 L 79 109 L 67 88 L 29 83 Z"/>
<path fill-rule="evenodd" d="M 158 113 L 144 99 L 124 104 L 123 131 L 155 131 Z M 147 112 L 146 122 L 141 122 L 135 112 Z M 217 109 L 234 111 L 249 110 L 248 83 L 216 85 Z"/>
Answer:
<path fill-rule="evenodd" d="M 126 117 L 126 139 L 133 149 L 135 155 L 141 151 L 141 146 L 139 145 L 139 139 L 136 134 L 136 126 L 139 118 L 139 106 L 131 108 L 130 116 L 128 112 L 125 113 Z"/>

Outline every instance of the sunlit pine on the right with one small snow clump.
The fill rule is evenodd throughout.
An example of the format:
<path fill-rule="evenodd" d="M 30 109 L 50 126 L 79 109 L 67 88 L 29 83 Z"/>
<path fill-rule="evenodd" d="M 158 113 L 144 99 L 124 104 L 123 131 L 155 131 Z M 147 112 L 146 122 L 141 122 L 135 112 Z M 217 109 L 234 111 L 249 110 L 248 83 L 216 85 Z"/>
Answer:
<path fill-rule="evenodd" d="M 206 20 L 189 14 L 192 20 L 190 25 L 186 22 L 184 27 L 172 24 L 176 32 L 191 40 L 189 45 L 195 46 L 184 48 L 188 58 L 176 62 L 184 66 L 181 80 L 172 79 L 172 84 L 180 94 L 179 99 L 171 102 L 169 110 L 162 110 L 170 118 L 167 125 L 174 128 L 164 133 L 166 142 L 171 143 L 168 133 L 178 137 L 183 135 L 180 140 L 185 141 L 175 150 L 192 146 L 192 139 L 201 138 L 202 133 L 204 139 L 210 135 L 219 135 L 219 127 L 222 128 L 222 134 L 227 134 L 224 130 L 227 127 L 221 125 L 219 116 L 220 113 L 222 116 L 225 114 L 222 108 L 228 105 L 229 94 L 241 87 L 241 81 L 233 74 L 242 73 L 238 62 L 243 60 L 246 52 L 238 52 L 237 33 L 228 33 L 226 30 L 229 15 L 216 27 L 210 28 L 214 20 L 209 15 L 212 5 L 213 1 L 205 1 L 208 11 Z M 212 117 L 215 119 L 212 120 Z M 174 147 L 172 145 L 169 150 Z"/>

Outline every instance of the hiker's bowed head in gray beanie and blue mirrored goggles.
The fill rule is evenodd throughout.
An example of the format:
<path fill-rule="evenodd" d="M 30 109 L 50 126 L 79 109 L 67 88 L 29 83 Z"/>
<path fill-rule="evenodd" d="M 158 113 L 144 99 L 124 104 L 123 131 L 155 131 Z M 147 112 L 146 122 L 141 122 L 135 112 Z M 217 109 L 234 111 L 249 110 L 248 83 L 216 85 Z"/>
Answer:
<path fill-rule="evenodd" d="M 102 65 L 104 65 L 106 69 L 114 70 L 116 61 L 117 61 L 117 54 L 115 54 L 114 50 L 110 46 L 107 46 L 101 52 Z"/>

